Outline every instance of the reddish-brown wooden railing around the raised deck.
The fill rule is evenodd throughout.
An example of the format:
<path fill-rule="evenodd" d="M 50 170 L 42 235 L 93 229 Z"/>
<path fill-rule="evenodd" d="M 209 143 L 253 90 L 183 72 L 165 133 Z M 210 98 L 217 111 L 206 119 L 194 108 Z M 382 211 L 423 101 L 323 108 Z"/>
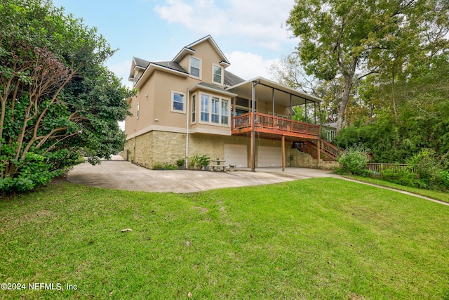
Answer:
<path fill-rule="evenodd" d="M 264 115 L 259 112 L 255 113 L 255 120 L 253 122 L 251 113 L 232 117 L 232 129 L 271 129 L 274 133 L 278 131 L 290 133 L 304 133 L 310 136 L 319 136 L 320 126 L 309 124 L 305 122 L 293 121 L 291 119 L 284 119 L 272 115 Z"/>

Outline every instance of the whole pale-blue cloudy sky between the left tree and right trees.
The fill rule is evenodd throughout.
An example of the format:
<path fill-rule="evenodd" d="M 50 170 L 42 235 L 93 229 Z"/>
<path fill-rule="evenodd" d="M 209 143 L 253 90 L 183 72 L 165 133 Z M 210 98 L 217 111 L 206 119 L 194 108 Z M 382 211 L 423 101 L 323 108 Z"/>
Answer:
<path fill-rule="evenodd" d="M 294 50 L 286 28 L 294 0 L 53 0 L 66 13 L 119 48 L 107 62 L 128 84 L 133 56 L 172 60 L 182 47 L 210 34 L 225 53 L 230 72 L 271 79 L 269 66 Z"/>

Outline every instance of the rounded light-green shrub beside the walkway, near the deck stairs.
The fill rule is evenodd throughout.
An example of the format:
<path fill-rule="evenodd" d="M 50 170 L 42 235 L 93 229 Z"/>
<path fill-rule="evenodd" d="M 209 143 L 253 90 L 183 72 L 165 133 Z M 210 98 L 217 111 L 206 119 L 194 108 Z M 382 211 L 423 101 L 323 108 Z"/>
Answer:
<path fill-rule="evenodd" d="M 337 170 L 337 173 L 349 171 L 351 174 L 359 176 L 370 174 L 367 151 L 360 145 L 344 150 L 338 162 L 342 165 L 343 170 Z"/>

